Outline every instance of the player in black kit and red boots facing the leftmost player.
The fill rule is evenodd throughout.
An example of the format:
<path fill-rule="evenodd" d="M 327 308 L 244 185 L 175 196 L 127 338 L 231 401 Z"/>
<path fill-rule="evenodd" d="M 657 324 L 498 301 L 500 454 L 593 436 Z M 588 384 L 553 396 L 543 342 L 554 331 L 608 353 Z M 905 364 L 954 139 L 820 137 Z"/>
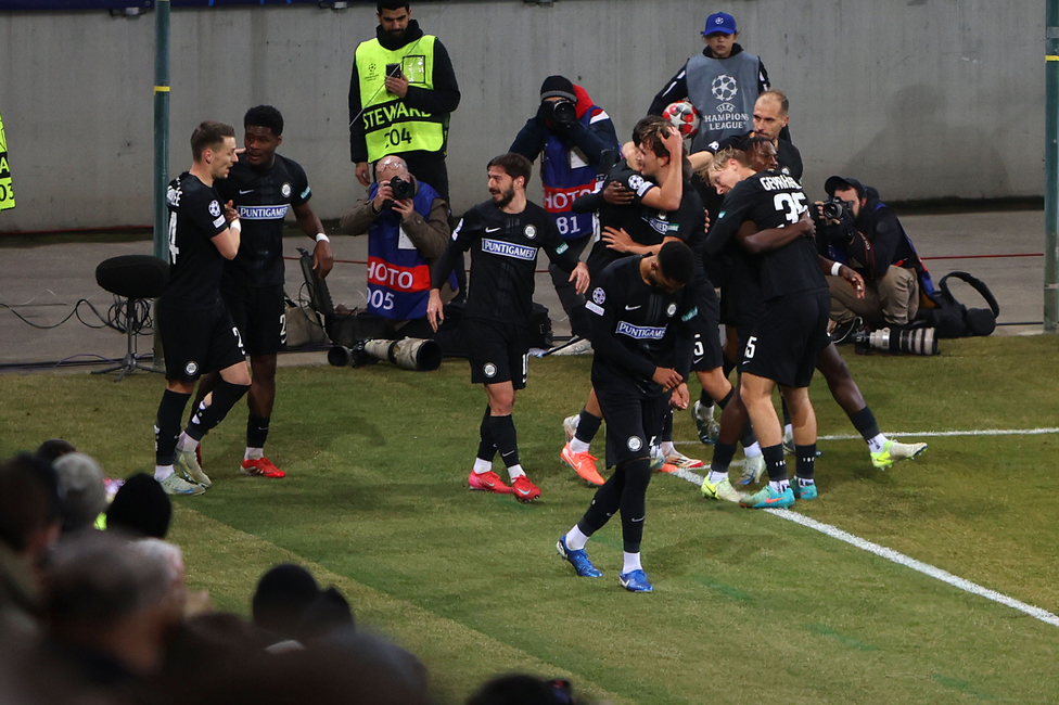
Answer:
<path fill-rule="evenodd" d="M 224 202 L 234 203 L 243 223 L 235 258 L 225 262 L 220 294 L 242 334 L 253 372 L 246 395 L 246 450 L 240 470 L 258 477 L 284 477 L 265 457 L 269 421 L 276 400 L 276 354 L 286 342 L 283 296 L 283 225 L 289 210 L 298 227 L 316 240 L 312 266 L 320 277 L 331 271 L 334 258 L 323 223 L 312 213 L 305 170 L 293 159 L 276 153 L 283 142 L 283 116 L 271 105 L 258 105 L 243 118 L 245 151 L 228 178 L 217 182 Z M 216 374 L 204 375 L 196 400 L 217 384 Z"/>

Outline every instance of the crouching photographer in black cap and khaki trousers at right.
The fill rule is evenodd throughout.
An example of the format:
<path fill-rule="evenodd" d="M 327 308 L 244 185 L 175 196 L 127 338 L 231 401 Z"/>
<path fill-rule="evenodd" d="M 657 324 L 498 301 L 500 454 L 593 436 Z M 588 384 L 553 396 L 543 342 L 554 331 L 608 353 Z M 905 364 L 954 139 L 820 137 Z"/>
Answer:
<path fill-rule="evenodd" d="M 879 192 L 856 179 L 833 176 L 824 185 L 826 203 L 816 203 L 817 246 L 828 259 L 852 267 L 864 278 L 865 295 L 841 277 L 828 277 L 831 337 L 847 338 L 857 318 L 872 328 L 908 325 L 919 310 L 920 281 L 929 274 L 901 221 Z M 929 293 L 929 292 L 928 292 Z"/>

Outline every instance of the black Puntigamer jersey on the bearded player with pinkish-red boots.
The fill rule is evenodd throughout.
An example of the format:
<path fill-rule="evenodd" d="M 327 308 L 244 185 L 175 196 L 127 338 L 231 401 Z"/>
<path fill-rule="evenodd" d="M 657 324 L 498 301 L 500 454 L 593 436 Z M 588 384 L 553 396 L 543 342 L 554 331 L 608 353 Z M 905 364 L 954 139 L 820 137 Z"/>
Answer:
<path fill-rule="evenodd" d="M 526 202 L 522 213 L 510 214 L 486 201 L 463 214 L 446 254 L 435 262 L 432 285 L 445 283 L 458 261 L 454 252 L 471 251 L 463 316 L 528 326 L 538 249 L 566 272 L 577 266 L 547 210 Z"/>

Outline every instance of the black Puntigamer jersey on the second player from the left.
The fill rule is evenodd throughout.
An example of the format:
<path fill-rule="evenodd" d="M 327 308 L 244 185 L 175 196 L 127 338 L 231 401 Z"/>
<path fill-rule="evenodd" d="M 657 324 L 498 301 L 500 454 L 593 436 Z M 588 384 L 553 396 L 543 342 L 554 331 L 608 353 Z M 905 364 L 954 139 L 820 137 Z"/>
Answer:
<path fill-rule="evenodd" d="M 226 281 L 240 286 L 283 284 L 283 222 L 291 206 L 312 196 L 305 170 L 279 154 L 265 168 L 237 162 L 228 178 L 217 182 L 217 192 L 224 203 L 234 203 L 243 228 L 239 254 L 225 264 Z"/>

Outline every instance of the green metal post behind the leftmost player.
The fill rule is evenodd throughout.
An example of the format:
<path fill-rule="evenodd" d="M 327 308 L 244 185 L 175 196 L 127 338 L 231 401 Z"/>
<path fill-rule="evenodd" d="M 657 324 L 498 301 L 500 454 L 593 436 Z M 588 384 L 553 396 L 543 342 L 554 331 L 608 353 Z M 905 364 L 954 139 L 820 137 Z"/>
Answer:
<path fill-rule="evenodd" d="M 168 261 L 165 193 L 169 183 L 169 0 L 157 0 L 154 13 L 154 256 Z M 154 329 L 154 366 L 165 367 L 157 325 Z"/>

